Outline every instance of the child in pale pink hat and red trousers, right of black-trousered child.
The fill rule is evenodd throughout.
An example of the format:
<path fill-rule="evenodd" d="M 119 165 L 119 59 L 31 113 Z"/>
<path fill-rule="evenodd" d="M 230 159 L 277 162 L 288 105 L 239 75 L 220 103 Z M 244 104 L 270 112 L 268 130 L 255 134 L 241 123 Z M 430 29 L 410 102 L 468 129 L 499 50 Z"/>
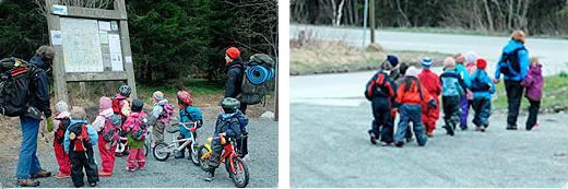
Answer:
<path fill-rule="evenodd" d="M 103 160 L 99 177 L 113 176 L 115 168 L 115 151 L 117 149 L 118 130 L 120 128 L 121 116 L 115 115 L 111 107 L 111 99 L 103 96 L 99 102 L 98 115 L 93 122 L 93 128 L 98 132 L 98 152 Z"/>

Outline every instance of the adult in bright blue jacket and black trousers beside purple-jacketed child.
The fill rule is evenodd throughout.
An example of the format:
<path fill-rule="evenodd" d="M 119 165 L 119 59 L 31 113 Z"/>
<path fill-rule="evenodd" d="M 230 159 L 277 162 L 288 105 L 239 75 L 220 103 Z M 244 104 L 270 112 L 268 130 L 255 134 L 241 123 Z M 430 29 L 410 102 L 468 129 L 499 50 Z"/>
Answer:
<path fill-rule="evenodd" d="M 514 31 L 509 43 L 502 48 L 501 57 L 495 70 L 495 83 L 499 83 L 501 74 L 505 80 L 507 104 L 509 104 L 507 130 L 517 130 L 517 118 L 524 88 L 521 82 L 525 80 L 528 70 L 529 50 L 524 47 L 524 32 Z"/>

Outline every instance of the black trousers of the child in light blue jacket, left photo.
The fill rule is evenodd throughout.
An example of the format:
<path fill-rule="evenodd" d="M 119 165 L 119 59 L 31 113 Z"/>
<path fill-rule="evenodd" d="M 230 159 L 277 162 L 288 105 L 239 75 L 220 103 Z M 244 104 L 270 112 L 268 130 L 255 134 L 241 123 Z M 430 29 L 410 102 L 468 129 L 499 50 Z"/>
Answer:
<path fill-rule="evenodd" d="M 87 149 L 87 151 L 84 152 L 69 151 L 69 157 L 71 158 L 71 180 L 73 180 L 75 187 L 84 185 L 83 168 L 85 168 L 88 184 L 98 181 L 98 172 L 93 156 L 93 147 L 85 146 L 85 149 Z"/>

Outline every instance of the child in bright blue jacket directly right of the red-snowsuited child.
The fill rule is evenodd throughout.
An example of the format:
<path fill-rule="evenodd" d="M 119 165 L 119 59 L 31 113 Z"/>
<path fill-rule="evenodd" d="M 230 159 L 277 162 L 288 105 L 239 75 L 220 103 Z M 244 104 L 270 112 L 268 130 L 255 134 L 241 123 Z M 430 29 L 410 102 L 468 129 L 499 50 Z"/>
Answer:
<path fill-rule="evenodd" d="M 460 98 L 465 96 L 468 90 L 465 82 L 455 69 L 455 60 L 451 57 L 443 60 L 443 73 L 440 74 L 441 102 L 443 105 L 443 128 L 446 133 L 453 135 L 455 126 L 460 122 Z"/>

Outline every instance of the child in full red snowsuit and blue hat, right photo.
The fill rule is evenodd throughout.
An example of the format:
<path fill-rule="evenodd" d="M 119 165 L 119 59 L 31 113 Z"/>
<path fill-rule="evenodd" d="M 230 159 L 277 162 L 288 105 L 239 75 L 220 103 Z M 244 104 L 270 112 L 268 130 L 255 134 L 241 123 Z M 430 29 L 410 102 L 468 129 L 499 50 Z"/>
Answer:
<path fill-rule="evenodd" d="M 426 135 L 434 137 L 434 129 L 436 129 L 436 121 L 440 117 L 440 99 L 439 96 L 441 94 L 441 84 L 440 78 L 434 72 L 430 71 L 431 67 L 431 58 L 425 57 L 422 60 L 422 73 L 418 74 L 418 81 L 424 85 L 424 87 L 428 91 L 428 93 L 436 101 L 436 108 L 431 108 L 426 106 L 426 104 L 422 104 L 422 121 L 424 122 L 424 130 L 426 131 Z"/>

